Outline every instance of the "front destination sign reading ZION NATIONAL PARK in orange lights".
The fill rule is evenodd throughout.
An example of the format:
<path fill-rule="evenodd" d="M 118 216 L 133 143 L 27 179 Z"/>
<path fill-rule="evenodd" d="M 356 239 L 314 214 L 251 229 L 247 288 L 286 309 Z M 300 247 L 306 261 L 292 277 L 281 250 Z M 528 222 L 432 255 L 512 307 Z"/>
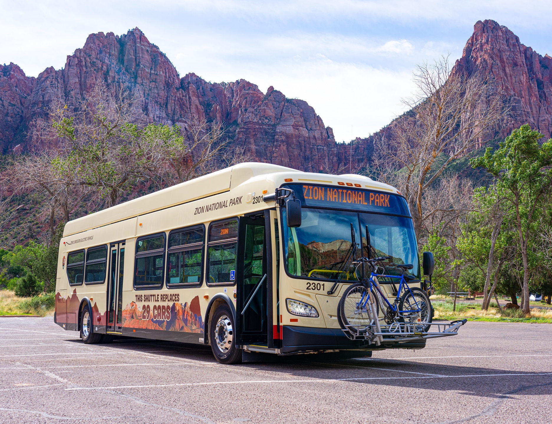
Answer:
<path fill-rule="evenodd" d="M 410 216 L 403 197 L 363 189 L 289 184 L 304 206 L 346 208 Z"/>

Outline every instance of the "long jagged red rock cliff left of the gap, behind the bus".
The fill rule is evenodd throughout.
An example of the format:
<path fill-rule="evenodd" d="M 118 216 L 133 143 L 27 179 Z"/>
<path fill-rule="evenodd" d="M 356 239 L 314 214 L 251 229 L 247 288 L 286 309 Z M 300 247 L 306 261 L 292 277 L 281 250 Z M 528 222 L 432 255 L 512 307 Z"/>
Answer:
<path fill-rule="evenodd" d="M 328 162 L 337 169 L 331 128 L 302 100 L 286 99 L 272 87 L 262 93 L 240 79 L 208 83 L 193 73 L 183 78 L 167 56 L 137 28 L 126 35 L 98 33 L 67 56 L 65 67 L 25 77 L 17 65 L 0 68 L 0 142 L 4 152 L 27 141 L 26 128 L 44 116 L 52 100 L 68 102 L 103 82 L 128 89 L 150 122 L 187 124 L 194 118 L 222 121 L 235 143 L 257 160 L 318 171 Z"/>

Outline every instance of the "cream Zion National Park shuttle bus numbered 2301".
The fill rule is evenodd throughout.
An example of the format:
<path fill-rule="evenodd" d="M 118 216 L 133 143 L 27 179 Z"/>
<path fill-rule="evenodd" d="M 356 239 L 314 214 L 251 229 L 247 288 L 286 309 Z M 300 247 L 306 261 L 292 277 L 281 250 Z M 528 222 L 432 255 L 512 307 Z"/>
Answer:
<path fill-rule="evenodd" d="M 383 346 L 350 340 L 337 316 L 355 280 L 344 262 L 354 240 L 359 256 L 367 239 L 389 256 L 388 273 L 412 264 L 410 286 L 420 286 L 412 219 L 394 187 L 235 165 L 68 222 L 54 320 L 85 343 L 131 336 L 210 345 L 221 363 L 370 356 Z"/>

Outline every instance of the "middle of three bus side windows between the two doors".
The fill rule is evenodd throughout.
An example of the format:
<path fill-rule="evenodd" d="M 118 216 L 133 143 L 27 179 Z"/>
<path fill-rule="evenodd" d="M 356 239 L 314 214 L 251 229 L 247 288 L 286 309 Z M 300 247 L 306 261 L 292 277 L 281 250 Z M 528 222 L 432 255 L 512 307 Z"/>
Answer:
<path fill-rule="evenodd" d="M 167 286 L 201 285 L 204 227 L 173 230 L 169 234 Z"/>

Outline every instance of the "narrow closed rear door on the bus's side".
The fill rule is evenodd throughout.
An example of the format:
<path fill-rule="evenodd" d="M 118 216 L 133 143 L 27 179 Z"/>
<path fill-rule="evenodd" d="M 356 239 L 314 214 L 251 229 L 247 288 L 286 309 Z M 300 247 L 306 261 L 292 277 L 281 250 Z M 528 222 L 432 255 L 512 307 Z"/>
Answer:
<path fill-rule="evenodd" d="M 123 326 L 123 270 L 125 243 L 112 243 L 109 248 L 109 280 L 107 289 L 107 331 L 122 332 Z"/>

